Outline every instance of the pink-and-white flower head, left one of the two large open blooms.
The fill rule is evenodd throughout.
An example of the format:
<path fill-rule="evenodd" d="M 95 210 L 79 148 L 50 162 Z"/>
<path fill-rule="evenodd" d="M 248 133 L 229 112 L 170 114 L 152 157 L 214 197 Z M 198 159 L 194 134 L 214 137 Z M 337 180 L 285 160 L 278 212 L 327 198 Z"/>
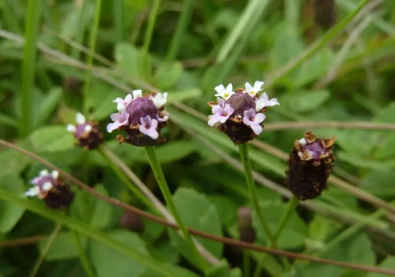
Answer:
<path fill-rule="evenodd" d="M 125 99 L 117 98 L 117 114 L 112 114 L 114 121 L 107 125 L 107 131 L 119 129 L 127 136 L 118 135 L 119 143 L 126 142 L 135 146 L 151 146 L 165 141 L 160 130 L 167 125 L 169 113 L 163 105 L 167 101 L 167 92 L 143 95 L 141 90 L 133 90 Z"/>

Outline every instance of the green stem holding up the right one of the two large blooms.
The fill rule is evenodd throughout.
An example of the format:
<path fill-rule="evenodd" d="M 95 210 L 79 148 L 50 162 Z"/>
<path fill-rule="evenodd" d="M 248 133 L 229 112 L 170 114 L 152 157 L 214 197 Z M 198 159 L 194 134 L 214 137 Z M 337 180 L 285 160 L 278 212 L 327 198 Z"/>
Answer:
<path fill-rule="evenodd" d="M 241 162 L 244 167 L 244 175 L 245 175 L 245 180 L 248 185 L 248 189 L 251 194 L 251 199 L 253 202 L 253 205 L 255 207 L 256 213 L 258 215 L 259 221 L 261 222 L 261 225 L 263 227 L 263 230 L 266 233 L 266 236 L 269 238 L 270 242 L 272 245 L 276 245 L 276 240 L 274 239 L 272 233 L 270 232 L 269 225 L 265 221 L 265 218 L 263 216 L 262 210 L 259 205 L 259 200 L 258 200 L 258 195 L 257 195 L 257 189 L 255 187 L 254 179 L 252 178 L 252 169 L 251 169 L 251 162 L 248 157 L 248 144 L 243 143 L 238 145 L 238 149 L 240 151 L 240 158 Z"/>

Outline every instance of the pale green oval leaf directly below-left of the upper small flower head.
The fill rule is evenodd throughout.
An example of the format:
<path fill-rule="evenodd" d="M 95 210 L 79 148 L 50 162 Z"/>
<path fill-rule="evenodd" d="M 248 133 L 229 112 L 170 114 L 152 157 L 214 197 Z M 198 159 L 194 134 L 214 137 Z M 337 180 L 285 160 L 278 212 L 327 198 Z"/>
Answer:
<path fill-rule="evenodd" d="M 45 126 L 30 135 L 33 148 L 37 152 L 56 152 L 74 147 L 74 136 L 64 125 Z"/>

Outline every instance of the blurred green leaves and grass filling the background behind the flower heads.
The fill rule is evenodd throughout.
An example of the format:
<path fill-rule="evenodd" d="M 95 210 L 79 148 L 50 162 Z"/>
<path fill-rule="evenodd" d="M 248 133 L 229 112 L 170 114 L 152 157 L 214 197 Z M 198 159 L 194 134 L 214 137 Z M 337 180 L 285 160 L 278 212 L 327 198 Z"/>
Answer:
<path fill-rule="evenodd" d="M 355 13 L 362 2 L 367 4 Z M 281 105 L 267 112 L 250 156 L 273 230 L 289 197 L 284 152 L 308 130 L 337 137 L 337 177 L 322 197 L 292 214 L 279 247 L 395 268 L 394 215 L 384 217 L 382 210 L 377 213 L 380 205 L 374 205 L 378 198 L 395 199 L 394 11 L 393 0 L 1 0 L 0 138 L 102 194 L 153 212 L 125 186 L 128 178 L 114 171 L 119 162 L 75 147 L 65 125 L 75 122 L 77 111 L 100 122 L 106 149 L 163 201 L 144 150 L 119 146 L 105 128 L 116 111 L 116 97 L 131 89 L 167 91 L 170 123 L 162 130 L 167 142 L 158 146 L 158 157 L 181 217 L 189 227 L 239 238 L 237 209 L 250 204 L 249 195 L 237 148 L 207 125 L 206 103 L 214 100 L 218 84 L 232 82 L 236 88 L 263 80 L 269 97 Z M 0 188 L 15 194 L 45 168 L 5 148 L 0 148 L 0 162 Z M 344 189 L 350 187 L 361 190 Z M 75 191 L 72 216 L 80 222 L 178 276 L 199 276 L 174 232 L 146 220 L 143 232 L 131 232 L 120 222 L 122 209 Z M 56 224 L 30 211 L 32 201 L 21 206 L 0 200 L 0 277 L 29 276 L 49 245 Z M 324 253 L 350 224 L 359 225 Z M 255 242 L 264 245 L 260 226 L 256 232 Z M 14 244 L 19 238 L 31 240 Z M 240 249 L 198 240 L 224 259 L 211 277 L 242 276 Z M 88 237 L 81 241 L 98 277 L 166 276 Z M 36 276 L 86 276 L 79 250 L 63 228 Z M 253 272 L 262 254 L 250 254 Z M 276 257 L 267 261 L 260 276 L 384 276 L 294 261 L 287 272 Z M 229 264 L 234 270 L 227 270 Z"/>

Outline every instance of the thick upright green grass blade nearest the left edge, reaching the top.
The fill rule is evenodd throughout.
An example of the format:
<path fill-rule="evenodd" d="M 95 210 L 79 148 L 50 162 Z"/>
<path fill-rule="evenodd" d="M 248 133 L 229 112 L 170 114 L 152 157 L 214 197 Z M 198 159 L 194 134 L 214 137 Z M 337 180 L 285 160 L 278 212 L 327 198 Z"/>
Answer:
<path fill-rule="evenodd" d="M 40 28 L 42 0 L 30 0 L 26 19 L 26 45 L 22 60 L 22 88 L 20 90 L 19 133 L 27 136 L 33 130 L 34 76 L 36 69 L 36 43 Z"/>

